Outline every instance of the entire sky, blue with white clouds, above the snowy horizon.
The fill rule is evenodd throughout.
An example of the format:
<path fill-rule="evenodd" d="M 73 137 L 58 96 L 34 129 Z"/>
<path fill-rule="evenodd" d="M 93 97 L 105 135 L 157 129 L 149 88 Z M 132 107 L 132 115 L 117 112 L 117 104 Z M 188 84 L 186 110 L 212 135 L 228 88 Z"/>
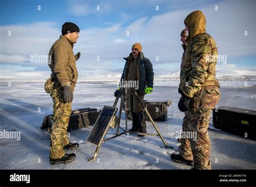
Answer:
<path fill-rule="evenodd" d="M 1 0 L 0 9 L 3 78 L 49 76 L 47 63 L 31 62 L 30 56 L 47 55 L 65 21 L 80 27 L 74 47 L 74 53 L 82 53 L 77 61 L 79 77 L 121 73 L 122 57 L 129 55 L 135 42 L 142 43 L 157 75 L 179 71 L 183 52 L 179 35 L 184 18 L 194 10 L 205 13 L 206 32 L 215 39 L 219 54 L 227 57 L 218 70 L 256 71 L 255 1 Z"/>

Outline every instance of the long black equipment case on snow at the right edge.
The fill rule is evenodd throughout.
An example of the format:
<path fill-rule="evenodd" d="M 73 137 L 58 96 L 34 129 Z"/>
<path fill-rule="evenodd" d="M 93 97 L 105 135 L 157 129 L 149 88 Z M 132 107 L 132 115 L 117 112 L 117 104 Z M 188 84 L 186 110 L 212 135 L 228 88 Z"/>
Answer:
<path fill-rule="evenodd" d="M 256 139 L 256 111 L 218 107 L 213 110 L 213 125 L 222 131 Z"/>

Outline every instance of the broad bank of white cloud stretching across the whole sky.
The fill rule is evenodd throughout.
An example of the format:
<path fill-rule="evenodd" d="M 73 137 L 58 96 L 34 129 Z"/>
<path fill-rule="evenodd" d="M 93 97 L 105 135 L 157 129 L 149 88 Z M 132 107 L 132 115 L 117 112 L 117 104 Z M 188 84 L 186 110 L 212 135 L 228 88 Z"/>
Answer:
<path fill-rule="evenodd" d="M 200 9 L 206 16 L 206 31 L 217 42 L 219 54 L 227 55 L 228 59 L 255 56 L 255 13 L 250 3 L 251 1 L 224 1 L 202 5 Z M 218 11 L 214 10 L 215 4 L 218 5 Z M 87 6 L 82 6 L 80 13 L 86 10 L 90 11 Z M 183 53 L 179 35 L 184 28 L 185 17 L 194 10 L 180 9 L 153 17 L 142 17 L 125 27 L 122 23 L 111 23 L 107 24 L 106 28 L 80 30 L 80 38 L 73 49 L 74 53 L 80 51 L 82 54 L 77 62 L 80 75 L 86 75 L 89 72 L 86 69 L 96 69 L 98 72 L 103 69 L 107 72 L 114 68 L 122 69 L 122 57 L 129 55 L 135 42 L 142 43 L 143 52 L 151 59 L 155 69 L 179 70 Z M 122 15 L 130 19 L 130 15 L 121 12 Z M 19 63 L 33 54 L 47 55 L 51 45 L 61 34 L 61 26 L 62 24 L 51 22 L 0 26 L 3 56 L 1 62 L 6 60 Z M 8 31 L 12 33 L 10 37 Z M 129 31 L 129 36 L 126 31 Z M 247 37 L 244 36 L 244 31 L 248 32 Z M 100 61 L 97 61 L 97 56 Z M 156 61 L 156 56 L 159 61 Z M 172 64 L 175 64 L 175 67 Z M 38 66 L 47 67 L 47 64 Z M 225 68 L 235 69 L 237 66 Z"/>

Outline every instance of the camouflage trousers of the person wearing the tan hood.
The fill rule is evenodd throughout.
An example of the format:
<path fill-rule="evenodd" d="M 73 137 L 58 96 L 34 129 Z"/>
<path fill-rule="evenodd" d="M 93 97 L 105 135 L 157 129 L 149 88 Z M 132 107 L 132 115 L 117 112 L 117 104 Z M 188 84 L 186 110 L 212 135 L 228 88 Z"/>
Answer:
<path fill-rule="evenodd" d="M 186 160 L 193 160 L 196 169 L 211 169 L 211 141 L 207 132 L 210 113 L 220 99 L 217 86 L 205 86 L 190 100 L 190 106 L 183 119 L 180 155 Z"/>

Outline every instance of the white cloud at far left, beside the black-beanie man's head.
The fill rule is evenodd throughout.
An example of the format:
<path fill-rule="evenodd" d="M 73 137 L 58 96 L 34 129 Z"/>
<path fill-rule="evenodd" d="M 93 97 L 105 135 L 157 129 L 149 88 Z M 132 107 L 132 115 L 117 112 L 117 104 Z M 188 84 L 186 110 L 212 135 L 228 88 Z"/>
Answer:
<path fill-rule="evenodd" d="M 35 53 L 48 55 L 53 41 L 61 34 L 61 25 L 59 29 L 57 26 L 52 22 L 0 26 L 1 53 L 28 58 Z M 9 31 L 11 35 L 8 35 Z"/>

